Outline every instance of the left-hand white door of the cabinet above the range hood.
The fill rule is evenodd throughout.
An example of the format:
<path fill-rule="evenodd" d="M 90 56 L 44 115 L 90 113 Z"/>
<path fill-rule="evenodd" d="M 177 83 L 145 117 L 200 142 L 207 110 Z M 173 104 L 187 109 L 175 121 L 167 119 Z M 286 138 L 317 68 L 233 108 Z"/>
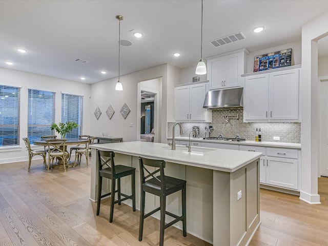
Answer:
<path fill-rule="evenodd" d="M 211 89 L 223 88 L 224 80 L 224 57 L 208 60 L 208 77 Z"/>

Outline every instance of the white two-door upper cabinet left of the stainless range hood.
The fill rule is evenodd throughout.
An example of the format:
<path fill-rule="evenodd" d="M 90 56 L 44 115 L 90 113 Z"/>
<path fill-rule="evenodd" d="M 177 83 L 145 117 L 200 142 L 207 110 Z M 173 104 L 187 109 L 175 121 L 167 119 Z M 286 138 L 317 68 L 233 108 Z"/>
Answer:
<path fill-rule="evenodd" d="M 203 108 L 208 83 L 175 87 L 175 121 L 212 121 L 212 111 Z"/>

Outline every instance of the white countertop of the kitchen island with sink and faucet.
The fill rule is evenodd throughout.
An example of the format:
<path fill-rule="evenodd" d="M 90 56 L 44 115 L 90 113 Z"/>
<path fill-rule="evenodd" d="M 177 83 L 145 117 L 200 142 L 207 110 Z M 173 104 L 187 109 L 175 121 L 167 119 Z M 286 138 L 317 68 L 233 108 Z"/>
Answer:
<path fill-rule="evenodd" d="M 176 146 L 176 150 L 171 150 L 171 146 L 167 144 L 145 141 L 97 144 L 90 145 L 90 147 L 224 172 L 235 172 L 262 155 L 259 152 L 201 147 L 192 147 L 192 152 L 188 152 L 186 146 L 179 145 Z"/>

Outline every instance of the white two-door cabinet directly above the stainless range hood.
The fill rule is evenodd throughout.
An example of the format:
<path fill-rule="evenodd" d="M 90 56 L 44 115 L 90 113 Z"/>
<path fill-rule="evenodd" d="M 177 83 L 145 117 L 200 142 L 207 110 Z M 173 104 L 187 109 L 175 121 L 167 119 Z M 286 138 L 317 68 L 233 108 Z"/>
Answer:
<path fill-rule="evenodd" d="M 242 85 L 240 75 L 246 71 L 246 49 L 227 53 L 207 59 L 210 90 L 239 87 Z"/>

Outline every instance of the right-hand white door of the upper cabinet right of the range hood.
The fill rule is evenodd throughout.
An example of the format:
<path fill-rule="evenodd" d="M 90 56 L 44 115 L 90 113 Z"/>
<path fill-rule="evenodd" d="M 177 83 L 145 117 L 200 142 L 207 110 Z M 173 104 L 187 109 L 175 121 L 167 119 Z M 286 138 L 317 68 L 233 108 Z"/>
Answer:
<path fill-rule="evenodd" d="M 298 120 L 299 70 L 270 74 L 270 119 Z"/>

